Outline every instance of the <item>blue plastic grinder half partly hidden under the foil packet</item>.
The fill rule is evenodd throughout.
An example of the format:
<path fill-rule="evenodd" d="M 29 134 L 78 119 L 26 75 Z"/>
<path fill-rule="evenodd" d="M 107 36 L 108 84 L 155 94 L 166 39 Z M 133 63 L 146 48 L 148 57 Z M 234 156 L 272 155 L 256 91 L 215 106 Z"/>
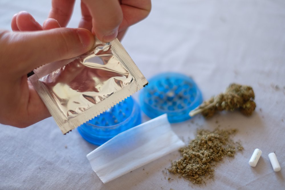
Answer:
<path fill-rule="evenodd" d="M 101 145 L 120 132 L 141 124 L 141 109 L 133 98 L 116 104 L 111 109 L 78 127 L 78 132 L 88 142 Z"/>

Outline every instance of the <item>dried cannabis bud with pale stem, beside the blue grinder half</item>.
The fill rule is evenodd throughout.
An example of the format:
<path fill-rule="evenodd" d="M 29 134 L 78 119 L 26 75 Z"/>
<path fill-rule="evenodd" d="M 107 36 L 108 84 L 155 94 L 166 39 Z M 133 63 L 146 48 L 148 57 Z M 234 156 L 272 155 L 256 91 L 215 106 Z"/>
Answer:
<path fill-rule="evenodd" d="M 225 93 L 211 97 L 199 107 L 190 111 L 190 117 L 201 113 L 205 118 L 212 117 L 217 111 L 234 111 L 239 109 L 246 116 L 252 115 L 255 110 L 254 92 L 252 87 L 239 84 L 230 84 Z"/>

